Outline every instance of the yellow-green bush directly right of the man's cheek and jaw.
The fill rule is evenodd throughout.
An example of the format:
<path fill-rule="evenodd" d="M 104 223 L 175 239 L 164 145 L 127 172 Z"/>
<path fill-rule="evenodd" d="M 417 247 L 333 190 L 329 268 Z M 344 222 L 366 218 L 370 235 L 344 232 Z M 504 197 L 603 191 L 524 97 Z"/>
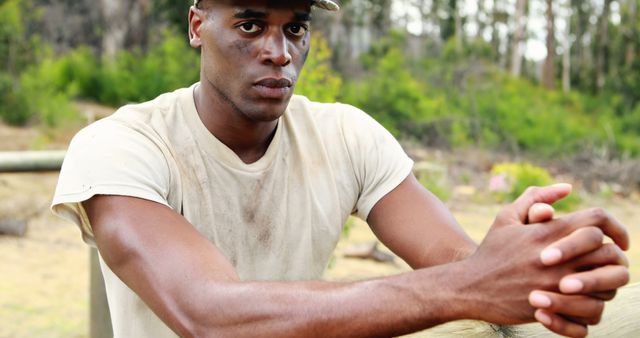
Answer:
<path fill-rule="evenodd" d="M 331 69 L 331 49 L 322 36 L 311 36 L 311 51 L 296 85 L 296 93 L 320 102 L 333 102 L 342 79 Z"/>

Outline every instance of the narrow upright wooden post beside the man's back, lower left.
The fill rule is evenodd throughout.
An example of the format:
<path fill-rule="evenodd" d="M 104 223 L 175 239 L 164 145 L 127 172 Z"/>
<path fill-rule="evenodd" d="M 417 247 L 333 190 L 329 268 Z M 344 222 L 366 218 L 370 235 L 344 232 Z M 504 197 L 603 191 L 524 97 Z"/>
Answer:
<path fill-rule="evenodd" d="M 100 262 L 98 259 L 98 250 L 91 248 L 90 254 L 90 279 L 89 286 L 91 309 L 89 310 L 90 329 L 89 337 L 91 338 L 112 338 L 113 328 L 111 327 L 111 315 L 109 313 L 109 304 L 107 303 L 107 293 L 104 289 L 104 278 L 100 270 Z"/>

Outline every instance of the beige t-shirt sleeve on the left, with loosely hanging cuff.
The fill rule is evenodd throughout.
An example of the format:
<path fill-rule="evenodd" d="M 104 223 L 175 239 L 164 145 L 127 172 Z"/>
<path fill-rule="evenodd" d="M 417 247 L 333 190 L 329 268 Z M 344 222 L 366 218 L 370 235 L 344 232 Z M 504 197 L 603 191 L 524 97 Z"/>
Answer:
<path fill-rule="evenodd" d="M 168 205 L 169 183 L 167 161 L 148 136 L 117 121 L 102 120 L 71 141 L 51 210 L 78 225 L 83 240 L 94 245 L 82 202 L 95 195 L 118 195 Z"/>

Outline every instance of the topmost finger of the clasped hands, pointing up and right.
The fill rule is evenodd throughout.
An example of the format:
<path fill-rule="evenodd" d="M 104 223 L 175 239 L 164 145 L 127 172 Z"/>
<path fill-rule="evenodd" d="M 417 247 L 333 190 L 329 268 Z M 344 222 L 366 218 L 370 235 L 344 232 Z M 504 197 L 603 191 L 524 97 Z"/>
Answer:
<path fill-rule="evenodd" d="M 511 204 L 514 208 L 515 217 L 524 223 L 527 220 L 531 206 L 536 203 L 553 204 L 569 195 L 571 189 L 571 185 L 566 183 L 546 187 L 529 187 Z"/>

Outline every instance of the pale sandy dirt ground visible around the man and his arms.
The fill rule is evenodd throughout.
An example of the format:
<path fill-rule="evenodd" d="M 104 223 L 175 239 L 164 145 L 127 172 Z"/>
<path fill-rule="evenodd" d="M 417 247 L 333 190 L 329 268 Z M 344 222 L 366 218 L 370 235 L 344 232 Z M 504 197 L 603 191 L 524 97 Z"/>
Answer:
<path fill-rule="evenodd" d="M 32 130 L 0 125 L 0 151 L 42 148 L 39 140 L 42 136 Z M 52 140 L 59 147 L 68 142 L 68 135 L 49 134 L 45 141 Z M 88 336 L 89 249 L 74 225 L 49 212 L 57 176 L 0 174 L 0 220 L 28 221 L 25 237 L 0 236 L 0 338 Z M 632 282 L 640 282 L 638 199 L 589 197 L 585 201 L 584 207 L 605 206 L 629 227 Z M 449 207 L 477 241 L 500 209 L 482 199 L 455 196 Z M 338 244 L 325 279 L 359 280 L 409 269 L 397 258 L 392 263 L 378 263 L 344 257 L 354 245 L 373 240 L 367 225 L 355 220 L 349 236 Z"/>

